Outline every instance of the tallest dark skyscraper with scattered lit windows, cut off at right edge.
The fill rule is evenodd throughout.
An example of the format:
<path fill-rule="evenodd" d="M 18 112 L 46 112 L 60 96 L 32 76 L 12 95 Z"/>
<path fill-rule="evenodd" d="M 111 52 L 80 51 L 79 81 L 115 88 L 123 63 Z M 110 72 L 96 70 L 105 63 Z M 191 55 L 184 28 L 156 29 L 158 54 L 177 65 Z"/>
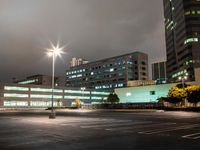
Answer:
<path fill-rule="evenodd" d="M 200 0 L 163 0 L 167 77 L 200 81 Z"/>

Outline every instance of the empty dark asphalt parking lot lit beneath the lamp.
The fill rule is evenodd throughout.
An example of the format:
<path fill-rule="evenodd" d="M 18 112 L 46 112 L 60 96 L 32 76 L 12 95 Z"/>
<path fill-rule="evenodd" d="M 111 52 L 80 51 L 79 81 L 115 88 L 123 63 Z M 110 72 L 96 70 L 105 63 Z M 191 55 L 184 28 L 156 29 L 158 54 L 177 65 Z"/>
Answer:
<path fill-rule="evenodd" d="M 200 148 L 200 114 L 71 110 L 0 112 L 1 149 Z"/>

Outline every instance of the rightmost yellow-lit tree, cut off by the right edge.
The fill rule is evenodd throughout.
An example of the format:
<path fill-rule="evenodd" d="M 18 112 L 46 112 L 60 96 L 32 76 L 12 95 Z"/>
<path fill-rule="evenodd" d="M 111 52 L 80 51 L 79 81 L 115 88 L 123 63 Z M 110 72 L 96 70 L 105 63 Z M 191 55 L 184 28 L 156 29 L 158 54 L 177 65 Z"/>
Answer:
<path fill-rule="evenodd" d="M 195 106 L 200 102 L 200 86 L 192 85 L 187 87 L 187 100 L 190 103 L 194 103 Z"/>

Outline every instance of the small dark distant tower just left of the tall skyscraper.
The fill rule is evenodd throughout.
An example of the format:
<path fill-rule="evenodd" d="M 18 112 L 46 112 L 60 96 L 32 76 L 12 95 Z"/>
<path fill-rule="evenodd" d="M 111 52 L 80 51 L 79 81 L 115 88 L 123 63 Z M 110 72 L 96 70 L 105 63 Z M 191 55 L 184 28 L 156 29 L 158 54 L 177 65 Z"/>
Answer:
<path fill-rule="evenodd" d="M 152 67 L 152 80 L 155 80 L 157 84 L 166 83 L 166 61 L 156 62 L 151 64 Z"/>

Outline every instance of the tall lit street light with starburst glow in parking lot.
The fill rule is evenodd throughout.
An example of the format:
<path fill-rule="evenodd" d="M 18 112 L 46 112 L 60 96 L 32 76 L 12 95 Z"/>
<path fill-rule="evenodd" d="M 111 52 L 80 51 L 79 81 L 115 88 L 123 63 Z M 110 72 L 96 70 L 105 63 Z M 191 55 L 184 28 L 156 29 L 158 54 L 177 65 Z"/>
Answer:
<path fill-rule="evenodd" d="M 55 119 L 56 113 L 53 109 L 55 59 L 56 59 L 56 56 L 61 57 L 61 55 L 64 54 L 63 52 L 64 47 L 60 47 L 59 43 L 57 43 L 56 46 L 51 43 L 51 47 L 52 47 L 51 49 L 47 49 L 47 55 L 49 57 L 52 57 L 52 99 L 51 99 L 51 113 L 49 115 L 49 118 Z"/>

